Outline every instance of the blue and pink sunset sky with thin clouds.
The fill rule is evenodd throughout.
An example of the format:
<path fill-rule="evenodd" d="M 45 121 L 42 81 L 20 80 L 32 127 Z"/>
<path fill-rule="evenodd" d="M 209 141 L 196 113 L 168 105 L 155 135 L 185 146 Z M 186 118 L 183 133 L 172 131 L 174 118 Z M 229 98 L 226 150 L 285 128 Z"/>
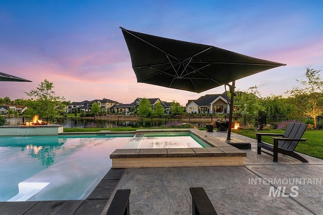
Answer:
<path fill-rule="evenodd" d="M 45 79 L 67 101 L 160 98 L 185 105 L 192 93 L 137 83 L 122 31 L 201 43 L 286 63 L 238 80 L 262 97 L 285 95 L 306 67 L 323 70 L 323 2 L 0 0 L 0 72 L 31 80 L 0 82 L 0 98 L 29 98 Z M 322 75 L 323 76 L 323 75 Z"/>

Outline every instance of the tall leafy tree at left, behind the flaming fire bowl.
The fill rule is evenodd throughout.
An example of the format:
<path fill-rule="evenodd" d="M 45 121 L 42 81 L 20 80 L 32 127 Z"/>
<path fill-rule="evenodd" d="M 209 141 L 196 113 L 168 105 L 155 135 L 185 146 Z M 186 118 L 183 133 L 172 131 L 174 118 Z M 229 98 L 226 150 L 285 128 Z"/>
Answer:
<path fill-rule="evenodd" d="M 58 114 L 56 107 L 60 105 L 64 97 L 56 96 L 52 90 L 54 88 L 53 83 L 48 82 L 46 79 L 38 86 L 37 90 L 32 90 L 29 93 L 25 92 L 32 97 L 27 102 L 28 108 L 32 109 L 34 114 L 42 117 L 56 116 Z"/>

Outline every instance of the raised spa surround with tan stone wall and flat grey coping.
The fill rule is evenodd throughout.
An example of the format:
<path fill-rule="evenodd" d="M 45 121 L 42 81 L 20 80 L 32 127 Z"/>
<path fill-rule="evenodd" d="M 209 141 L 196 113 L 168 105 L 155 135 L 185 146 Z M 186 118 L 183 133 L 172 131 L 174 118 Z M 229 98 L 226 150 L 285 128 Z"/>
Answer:
<path fill-rule="evenodd" d="M 189 131 L 211 148 L 117 149 L 111 155 L 112 168 L 243 166 L 246 153 L 198 129 L 160 129 L 163 132 Z M 139 129 L 157 132 L 156 129 Z"/>

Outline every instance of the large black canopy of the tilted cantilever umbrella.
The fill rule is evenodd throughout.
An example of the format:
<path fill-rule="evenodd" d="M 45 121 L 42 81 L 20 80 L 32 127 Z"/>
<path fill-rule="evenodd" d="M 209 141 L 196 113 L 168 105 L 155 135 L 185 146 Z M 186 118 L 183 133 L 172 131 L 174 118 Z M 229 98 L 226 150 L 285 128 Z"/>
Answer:
<path fill-rule="evenodd" d="M 200 93 L 286 65 L 122 27 L 137 81 Z"/>

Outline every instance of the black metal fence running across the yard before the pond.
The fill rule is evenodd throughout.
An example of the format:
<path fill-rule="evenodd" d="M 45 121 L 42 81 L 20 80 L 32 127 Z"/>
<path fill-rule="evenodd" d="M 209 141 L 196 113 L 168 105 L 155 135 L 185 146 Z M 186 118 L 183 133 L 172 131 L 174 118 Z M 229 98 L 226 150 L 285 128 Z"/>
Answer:
<path fill-rule="evenodd" d="M 24 125 L 26 122 L 32 121 L 32 117 L 8 117 L 6 118 L 6 125 Z M 200 116 L 200 115 L 187 115 L 187 116 L 163 116 L 163 117 L 140 117 L 129 115 L 109 115 L 109 116 L 95 116 L 95 117 L 50 117 L 39 119 L 46 121 L 50 124 L 61 124 L 65 128 L 86 128 L 86 127 L 161 127 L 167 124 L 176 123 L 190 123 L 196 128 L 205 126 L 207 123 L 215 123 L 216 116 Z M 298 117 L 298 116 L 233 116 L 233 122 L 238 122 L 240 126 L 259 127 L 261 124 L 269 124 L 276 128 L 277 123 L 295 120 L 299 122 L 306 122 L 312 120 L 311 117 Z M 318 128 L 323 127 L 323 116 L 316 118 Z"/>

